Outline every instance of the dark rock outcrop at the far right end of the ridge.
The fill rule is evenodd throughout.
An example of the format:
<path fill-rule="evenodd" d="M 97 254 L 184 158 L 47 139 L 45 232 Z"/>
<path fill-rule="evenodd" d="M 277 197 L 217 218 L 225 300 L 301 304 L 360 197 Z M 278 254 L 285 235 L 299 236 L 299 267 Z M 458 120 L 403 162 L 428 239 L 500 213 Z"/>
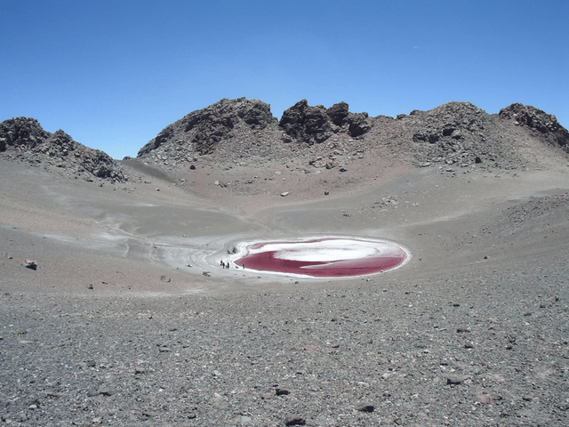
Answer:
<path fill-rule="evenodd" d="M 502 118 L 515 119 L 517 125 L 527 126 L 540 132 L 547 141 L 569 152 L 569 132 L 552 114 L 518 102 L 501 109 L 498 114 Z"/>

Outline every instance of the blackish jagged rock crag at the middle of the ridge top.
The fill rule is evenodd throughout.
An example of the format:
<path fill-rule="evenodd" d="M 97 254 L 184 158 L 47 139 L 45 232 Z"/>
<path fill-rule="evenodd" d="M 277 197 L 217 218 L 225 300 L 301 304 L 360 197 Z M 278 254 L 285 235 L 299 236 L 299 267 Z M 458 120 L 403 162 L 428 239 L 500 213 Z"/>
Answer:
<path fill-rule="evenodd" d="M 343 101 L 330 109 L 322 105 L 310 107 L 307 100 L 297 102 L 284 111 L 279 122 L 288 135 L 284 141 L 295 139 L 312 145 L 342 131 L 354 138 L 367 133 L 372 128 L 367 113 L 350 113 L 348 107 Z"/>

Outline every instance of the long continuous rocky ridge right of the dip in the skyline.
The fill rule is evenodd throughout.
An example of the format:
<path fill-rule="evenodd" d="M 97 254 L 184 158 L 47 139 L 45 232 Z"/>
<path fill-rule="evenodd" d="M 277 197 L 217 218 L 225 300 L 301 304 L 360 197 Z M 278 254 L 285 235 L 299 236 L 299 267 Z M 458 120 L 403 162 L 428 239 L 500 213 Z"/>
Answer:
<path fill-rule="evenodd" d="M 138 157 L 172 170 L 200 160 L 256 157 L 259 162 L 318 153 L 318 161 L 331 168 L 337 165 L 333 157 L 345 153 L 322 147 L 339 140 L 334 145 L 345 152 L 381 150 L 415 166 L 445 172 L 461 167 L 523 167 L 531 160 L 519 149 L 520 140 L 543 144 L 562 155 L 569 152 L 569 133 L 555 116 L 519 103 L 491 115 L 469 102 L 449 102 L 393 118 L 351 113 L 346 102 L 326 109 L 302 100 L 277 121 L 268 104 L 240 98 L 221 100 L 168 125 L 140 149 Z"/>

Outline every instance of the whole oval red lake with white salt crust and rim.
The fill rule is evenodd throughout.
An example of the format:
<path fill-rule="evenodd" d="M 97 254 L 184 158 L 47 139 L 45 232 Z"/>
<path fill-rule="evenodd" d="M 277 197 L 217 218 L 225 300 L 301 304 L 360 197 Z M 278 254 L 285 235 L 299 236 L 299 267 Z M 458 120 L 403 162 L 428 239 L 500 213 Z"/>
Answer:
<path fill-rule="evenodd" d="M 305 238 L 242 243 L 230 262 L 245 270 L 309 278 L 350 278 L 395 270 L 411 257 L 403 246 L 370 238 Z M 235 255 L 234 255 L 235 256 Z"/>

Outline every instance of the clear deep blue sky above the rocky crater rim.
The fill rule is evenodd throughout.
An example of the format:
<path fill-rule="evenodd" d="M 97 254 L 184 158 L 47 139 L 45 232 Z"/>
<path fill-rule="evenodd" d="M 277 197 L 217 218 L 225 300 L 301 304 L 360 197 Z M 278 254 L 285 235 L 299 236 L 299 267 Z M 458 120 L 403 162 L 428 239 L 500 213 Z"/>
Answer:
<path fill-rule="evenodd" d="M 0 0 L 0 121 L 122 158 L 221 98 L 397 116 L 522 102 L 569 127 L 567 0 Z"/>

